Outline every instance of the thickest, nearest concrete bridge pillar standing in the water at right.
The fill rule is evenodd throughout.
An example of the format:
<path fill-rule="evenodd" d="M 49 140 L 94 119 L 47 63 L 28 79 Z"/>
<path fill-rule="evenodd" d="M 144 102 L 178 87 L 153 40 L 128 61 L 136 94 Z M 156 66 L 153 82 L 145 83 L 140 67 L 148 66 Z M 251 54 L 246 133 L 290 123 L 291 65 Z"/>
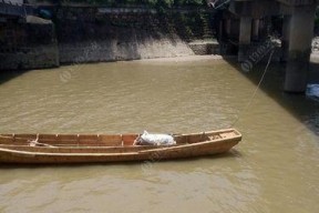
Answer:
<path fill-rule="evenodd" d="M 308 82 L 311 40 L 313 38 L 313 6 L 294 8 L 289 20 L 289 42 L 284 90 L 305 92 Z"/>

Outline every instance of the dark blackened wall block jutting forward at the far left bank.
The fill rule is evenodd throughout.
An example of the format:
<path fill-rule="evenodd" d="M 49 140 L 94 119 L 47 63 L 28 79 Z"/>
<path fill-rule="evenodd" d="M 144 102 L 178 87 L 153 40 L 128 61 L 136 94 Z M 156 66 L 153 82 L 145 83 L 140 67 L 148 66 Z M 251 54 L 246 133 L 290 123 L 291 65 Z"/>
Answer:
<path fill-rule="evenodd" d="M 20 19 L 20 18 L 19 18 Z M 54 68 L 59 50 L 51 21 L 27 17 L 0 23 L 0 70 Z"/>

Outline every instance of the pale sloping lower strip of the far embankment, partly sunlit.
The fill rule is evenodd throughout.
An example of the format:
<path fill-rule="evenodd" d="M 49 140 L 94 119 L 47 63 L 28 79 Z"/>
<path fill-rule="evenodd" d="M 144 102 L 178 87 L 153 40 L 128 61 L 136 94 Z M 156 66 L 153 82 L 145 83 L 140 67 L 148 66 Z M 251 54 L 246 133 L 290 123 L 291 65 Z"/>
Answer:
<path fill-rule="evenodd" d="M 130 34 L 132 38 L 128 40 L 115 37 L 103 41 L 60 43 L 60 62 L 84 63 L 194 55 L 187 43 L 178 37 L 152 38 L 147 34 L 141 36 L 136 31 Z"/>

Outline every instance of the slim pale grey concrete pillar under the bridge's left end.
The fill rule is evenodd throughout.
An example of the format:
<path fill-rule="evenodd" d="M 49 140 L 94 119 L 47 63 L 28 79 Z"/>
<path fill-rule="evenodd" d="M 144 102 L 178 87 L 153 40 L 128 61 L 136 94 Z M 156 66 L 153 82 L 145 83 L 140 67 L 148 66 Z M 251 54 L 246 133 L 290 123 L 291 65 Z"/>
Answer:
<path fill-rule="evenodd" d="M 251 18 L 240 17 L 239 50 L 238 50 L 239 62 L 243 62 L 247 59 L 250 39 L 251 39 Z"/>

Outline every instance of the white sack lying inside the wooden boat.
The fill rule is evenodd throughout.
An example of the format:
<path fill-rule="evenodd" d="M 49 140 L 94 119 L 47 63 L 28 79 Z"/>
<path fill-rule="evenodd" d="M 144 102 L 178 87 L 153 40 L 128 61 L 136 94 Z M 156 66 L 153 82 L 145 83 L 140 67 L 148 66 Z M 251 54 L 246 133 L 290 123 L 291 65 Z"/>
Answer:
<path fill-rule="evenodd" d="M 144 133 L 136 139 L 135 144 L 174 145 L 176 144 L 176 141 L 174 141 L 174 138 L 168 134 L 150 134 L 148 132 L 144 131 Z"/>

